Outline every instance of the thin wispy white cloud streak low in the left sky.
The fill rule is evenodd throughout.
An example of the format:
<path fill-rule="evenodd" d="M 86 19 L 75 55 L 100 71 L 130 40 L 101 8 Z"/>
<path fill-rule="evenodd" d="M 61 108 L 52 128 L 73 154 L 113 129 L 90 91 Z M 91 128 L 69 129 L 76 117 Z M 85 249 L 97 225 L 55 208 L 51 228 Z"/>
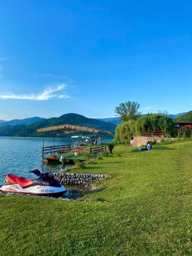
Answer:
<path fill-rule="evenodd" d="M 1 99 L 27 99 L 27 100 L 49 100 L 51 98 L 67 99 L 70 98 L 67 94 L 57 94 L 56 92 L 62 91 L 67 87 L 65 83 L 59 84 L 57 87 L 48 87 L 42 93 L 37 95 L 16 95 L 16 94 L 0 94 Z"/>

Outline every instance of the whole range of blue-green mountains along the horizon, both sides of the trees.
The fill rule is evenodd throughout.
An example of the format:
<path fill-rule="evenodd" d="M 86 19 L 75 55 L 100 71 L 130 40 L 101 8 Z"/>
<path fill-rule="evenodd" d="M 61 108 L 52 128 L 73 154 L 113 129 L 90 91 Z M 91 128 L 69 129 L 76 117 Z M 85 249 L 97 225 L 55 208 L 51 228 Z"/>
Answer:
<path fill-rule="evenodd" d="M 167 114 L 166 116 L 173 118 L 174 121 L 192 122 L 192 111 L 176 115 Z M 41 136 L 36 132 L 39 128 L 66 123 L 94 127 L 99 130 L 110 131 L 114 134 L 116 125 L 120 124 L 121 120 L 119 117 L 93 119 L 74 113 L 64 114 L 60 117 L 52 117 L 48 119 L 31 117 L 25 119 L 14 119 L 11 121 L 0 120 L 0 136 L 37 137 Z M 82 135 L 85 135 L 85 133 L 82 132 Z"/>

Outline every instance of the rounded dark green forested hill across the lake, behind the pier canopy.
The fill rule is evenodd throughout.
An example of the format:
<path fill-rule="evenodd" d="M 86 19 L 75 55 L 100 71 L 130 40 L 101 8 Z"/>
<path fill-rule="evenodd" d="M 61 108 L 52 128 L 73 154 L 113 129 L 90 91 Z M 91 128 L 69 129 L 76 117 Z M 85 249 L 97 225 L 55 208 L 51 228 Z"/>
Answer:
<path fill-rule="evenodd" d="M 54 126 L 60 124 L 74 124 L 79 126 L 94 127 L 99 130 L 110 131 L 112 134 L 115 133 L 116 125 L 99 121 L 93 118 L 87 118 L 82 115 L 70 113 L 60 117 L 52 117 L 48 119 L 41 119 L 30 125 L 6 125 L 0 127 L 0 136 L 17 136 L 17 137 L 36 137 L 40 134 L 36 133 L 36 130 L 41 127 Z M 82 133 L 84 135 L 84 133 Z"/>

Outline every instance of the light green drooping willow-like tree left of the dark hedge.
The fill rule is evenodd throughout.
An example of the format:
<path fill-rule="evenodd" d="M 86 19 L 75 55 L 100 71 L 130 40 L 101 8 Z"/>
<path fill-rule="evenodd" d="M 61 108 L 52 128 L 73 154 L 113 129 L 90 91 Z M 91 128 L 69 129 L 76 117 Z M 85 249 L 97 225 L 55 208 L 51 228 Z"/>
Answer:
<path fill-rule="evenodd" d="M 130 140 L 133 138 L 133 132 L 135 132 L 135 120 L 125 121 L 117 125 L 115 139 L 130 144 Z"/>

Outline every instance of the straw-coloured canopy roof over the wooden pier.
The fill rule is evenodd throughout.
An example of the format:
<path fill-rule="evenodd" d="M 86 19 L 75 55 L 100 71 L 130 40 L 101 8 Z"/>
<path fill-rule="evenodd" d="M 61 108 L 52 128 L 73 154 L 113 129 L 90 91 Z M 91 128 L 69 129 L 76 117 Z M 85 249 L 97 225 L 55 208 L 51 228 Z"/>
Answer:
<path fill-rule="evenodd" d="M 92 132 L 92 133 L 105 133 L 111 134 L 109 131 L 98 130 L 92 127 L 77 126 L 72 124 L 61 124 L 56 126 L 44 127 L 37 130 L 37 133 L 44 132 L 61 132 L 61 133 L 75 133 L 75 132 Z"/>

